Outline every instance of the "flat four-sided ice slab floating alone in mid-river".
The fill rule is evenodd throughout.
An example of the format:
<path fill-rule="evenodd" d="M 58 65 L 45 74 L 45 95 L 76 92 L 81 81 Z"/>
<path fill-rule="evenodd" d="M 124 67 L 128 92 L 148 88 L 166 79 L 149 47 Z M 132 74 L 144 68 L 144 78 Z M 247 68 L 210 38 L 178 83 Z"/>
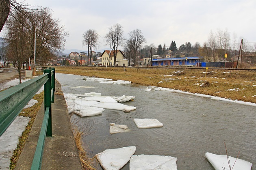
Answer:
<path fill-rule="evenodd" d="M 152 128 L 152 127 L 163 127 L 163 123 L 159 122 L 155 118 L 135 118 L 133 119 L 138 128 Z"/>

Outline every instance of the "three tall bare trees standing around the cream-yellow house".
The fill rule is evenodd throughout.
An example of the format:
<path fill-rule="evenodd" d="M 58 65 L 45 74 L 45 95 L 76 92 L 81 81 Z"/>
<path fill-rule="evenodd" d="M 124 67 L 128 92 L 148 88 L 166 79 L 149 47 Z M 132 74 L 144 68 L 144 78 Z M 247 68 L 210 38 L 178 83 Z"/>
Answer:
<path fill-rule="evenodd" d="M 98 39 L 99 34 L 96 30 L 87 30 L 84 34 L 82 34 L 83 40 L 82 45 L 88 46 L 88 52 L 89 49 L 92 52 L 93 48 L 98 47 Z M 124 37 L 124 30 L 123 26 L 120 24 L 114 24 L 108 29 L 108 33 L 104 36 L 104 39 L 106 41 L 106 45 L 109 45 L 109 47 L 113 51 L 113 57 L 114 57 L 114 66 L 116 63 L 117 58 L 117 50 L 120 46 L 124 47 L 125 52 L 128 53 L 128 65 L 131 65 L 131 61 L 133 65 L 135 65 L 135 58 L 138 54 L 139 48 L 141 48 L 141 45 L 143 43 L 146 43 L 146 39 L 142 35 L 141 30 L 136 29 L 132 30 L 128 33 L 128 39 Z M 91 65 L 91 57 L 92 54 L 90 54 L 90 65 Z M 89 55 L 88 55 L 88 65 L 89 65 Z"/>

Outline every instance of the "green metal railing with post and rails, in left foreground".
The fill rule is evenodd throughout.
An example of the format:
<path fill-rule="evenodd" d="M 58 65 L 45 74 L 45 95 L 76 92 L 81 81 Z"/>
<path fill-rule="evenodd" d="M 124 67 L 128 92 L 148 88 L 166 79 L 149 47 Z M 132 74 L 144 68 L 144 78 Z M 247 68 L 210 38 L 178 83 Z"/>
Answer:
<path fill-rule="evenodd" d="M 20 114 L 25 105 L 44 85 L 44 118 L 31 169 L 40 169 L 46 136 L 52 136 L 52 106 L 55 91 L 55 69 L 0 92 L 0 136 Z"/>

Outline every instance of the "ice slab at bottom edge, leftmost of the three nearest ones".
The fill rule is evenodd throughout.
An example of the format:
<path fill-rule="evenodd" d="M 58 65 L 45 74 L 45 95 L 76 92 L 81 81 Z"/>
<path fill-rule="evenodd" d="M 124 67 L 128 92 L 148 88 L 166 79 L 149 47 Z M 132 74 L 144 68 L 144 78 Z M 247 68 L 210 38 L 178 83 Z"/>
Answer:
<path fill-rule="evenodd" d="M 96 154 L 96 157 L 104 170 L 119 170 L 127 164 L 135 151 L 136 146 L 106 149 Z"/>

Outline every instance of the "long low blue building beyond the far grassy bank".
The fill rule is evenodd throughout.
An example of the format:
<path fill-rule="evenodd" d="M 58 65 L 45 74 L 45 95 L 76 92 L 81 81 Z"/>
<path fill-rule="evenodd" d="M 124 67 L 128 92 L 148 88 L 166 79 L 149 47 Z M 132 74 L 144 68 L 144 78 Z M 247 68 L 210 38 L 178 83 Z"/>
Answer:
<path fill-rule="evenodd" d="M 204 57 L 156 58 L 152 60 L 152 66 L 196 66 L 203 60 Z"/>

